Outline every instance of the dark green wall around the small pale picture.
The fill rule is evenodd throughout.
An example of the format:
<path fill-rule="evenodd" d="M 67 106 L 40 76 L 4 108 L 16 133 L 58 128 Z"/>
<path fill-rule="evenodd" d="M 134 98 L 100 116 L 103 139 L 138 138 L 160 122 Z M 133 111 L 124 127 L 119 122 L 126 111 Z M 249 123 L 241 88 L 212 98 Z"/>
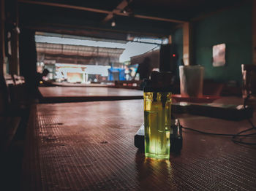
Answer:
<path fill-rule="evenodd" d="M 205 79 L 241 84 L 241 64 L 252 63 L 252 4 L 218 12 L 193 23 L 195 64 L 205 66 Z M 212 66 L 212 46 L 226 44 L 226 65 Z"/>

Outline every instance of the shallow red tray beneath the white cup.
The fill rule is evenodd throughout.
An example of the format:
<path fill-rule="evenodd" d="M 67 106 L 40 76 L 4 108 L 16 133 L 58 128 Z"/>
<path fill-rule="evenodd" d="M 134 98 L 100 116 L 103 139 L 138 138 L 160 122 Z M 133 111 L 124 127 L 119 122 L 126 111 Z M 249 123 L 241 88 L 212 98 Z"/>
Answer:
<path fill-rule="evenodd" d="M 185 96 L 181 96 L 181 94 L 173 94 L 172 98 L 177 102 L 185 101 L 185 102 L 192 102 L 192 103 L 211 103 L 214 100 L 217 100 L 221 97 L 217 95 L 203 95 L 203 97 L 197 98 L 197 97 L 185 97 Z"/>

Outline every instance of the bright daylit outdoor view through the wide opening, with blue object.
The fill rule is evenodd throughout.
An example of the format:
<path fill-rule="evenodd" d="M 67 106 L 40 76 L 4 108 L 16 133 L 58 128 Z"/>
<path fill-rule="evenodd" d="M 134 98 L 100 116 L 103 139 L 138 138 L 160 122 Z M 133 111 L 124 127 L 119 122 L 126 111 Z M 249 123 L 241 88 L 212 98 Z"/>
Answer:
<path fill-rule="evenodd" d="M 49 74 L 45 81 L 62 85 L 139 81 L 138 65 L 149 58 L 153 70 L 159 70 L 159 46 L 168 41 L 130 39 L 118 41 L 37 32 L 37 72 L 47 69 Z"/>

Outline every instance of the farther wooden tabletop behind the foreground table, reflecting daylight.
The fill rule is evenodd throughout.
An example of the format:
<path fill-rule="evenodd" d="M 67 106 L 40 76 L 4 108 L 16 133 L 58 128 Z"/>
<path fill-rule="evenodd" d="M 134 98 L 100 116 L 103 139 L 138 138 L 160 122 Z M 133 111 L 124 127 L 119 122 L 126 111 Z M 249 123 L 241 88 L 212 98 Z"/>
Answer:
<path fill-rule="evenodd" d="M 39 87 L 44 103 L 142 99 L 142 90 L 113 87 Z"/>

